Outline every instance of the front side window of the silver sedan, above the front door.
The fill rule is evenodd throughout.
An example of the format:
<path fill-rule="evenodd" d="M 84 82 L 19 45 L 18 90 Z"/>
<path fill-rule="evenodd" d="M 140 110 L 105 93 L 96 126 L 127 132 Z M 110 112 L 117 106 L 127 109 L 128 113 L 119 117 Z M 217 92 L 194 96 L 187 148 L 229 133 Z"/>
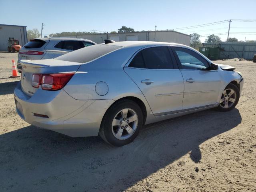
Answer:
<path fill-rule="evenodd" d="M 180 47 L 173 48 L 180 60 L 182 69 L 203 70 L 209 67 L 208 62 L 196 52 Z"/>

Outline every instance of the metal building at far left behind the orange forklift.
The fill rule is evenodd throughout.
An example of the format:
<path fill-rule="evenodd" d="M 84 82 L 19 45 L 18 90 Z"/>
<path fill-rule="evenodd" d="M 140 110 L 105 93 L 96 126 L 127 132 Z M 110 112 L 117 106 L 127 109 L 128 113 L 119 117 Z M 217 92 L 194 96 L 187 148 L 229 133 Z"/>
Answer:
<path fill-rule="evenodd" d="M 9 37 L 19 40 L 23 46 L 28 42 L 26 26 L 0 24 L 0 51 L 7 51 Z"/>

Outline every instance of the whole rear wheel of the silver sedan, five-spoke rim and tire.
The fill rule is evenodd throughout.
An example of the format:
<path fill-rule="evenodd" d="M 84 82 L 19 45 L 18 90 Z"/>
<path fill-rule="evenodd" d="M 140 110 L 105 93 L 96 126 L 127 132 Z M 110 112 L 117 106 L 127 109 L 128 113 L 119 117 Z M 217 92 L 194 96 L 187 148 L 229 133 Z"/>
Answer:
<path fill-rule="evenodd" d="M 114 146 L 132 142 L 143 123 L 142 110 L 132 100 L 120 100 L 105 113 L 100 126 L 101 138 Z"/>

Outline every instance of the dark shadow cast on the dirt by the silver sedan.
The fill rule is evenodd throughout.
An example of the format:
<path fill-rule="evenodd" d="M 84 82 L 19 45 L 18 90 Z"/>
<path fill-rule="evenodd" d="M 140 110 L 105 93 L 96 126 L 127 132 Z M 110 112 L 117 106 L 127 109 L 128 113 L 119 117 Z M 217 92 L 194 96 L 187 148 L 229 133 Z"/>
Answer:
<path fill-rule="evenodd" d="M 126 190 L 188 153 L 199 162 L 200 144 L 241 120 L 236 108 L 206 110 L 146 125 L 119 148 L 99 137 L 70 138 L 27 126 L 0 135 L 0 191 Z"/>

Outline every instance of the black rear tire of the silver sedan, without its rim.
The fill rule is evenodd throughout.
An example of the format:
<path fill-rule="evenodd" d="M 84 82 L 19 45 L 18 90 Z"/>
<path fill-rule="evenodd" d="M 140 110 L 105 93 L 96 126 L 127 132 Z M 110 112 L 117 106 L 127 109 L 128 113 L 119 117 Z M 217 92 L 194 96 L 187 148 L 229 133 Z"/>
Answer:
<path fill-rule="evenodd" d="M 117 139 L 113 132 L 112 132 L 112 121 L 114 120 L 116 114 L 125 108 L 130 108 L 134 110 L 138 116 L 138 125 L 136 130 L 133 132 L 132 136 L 130 138 L 127 138 L 125 140 L 120 140 Z M 100 125 L 100 131 L 99 135 L 100 137 L 106 141 L 108 144 L 114 145 L 114 146 L 124 146 L 126 144 L 129 144 L 132 142 L 136 136 L 138 135 L 140 128 L 142 127 L 143 124 L 143 115 L 142 115 L 142 110 L 136 104 L 136 102 L 128 99 L 123 99 L 115 102 L 108 110 L 106 111 L 101 125 Z"/>

